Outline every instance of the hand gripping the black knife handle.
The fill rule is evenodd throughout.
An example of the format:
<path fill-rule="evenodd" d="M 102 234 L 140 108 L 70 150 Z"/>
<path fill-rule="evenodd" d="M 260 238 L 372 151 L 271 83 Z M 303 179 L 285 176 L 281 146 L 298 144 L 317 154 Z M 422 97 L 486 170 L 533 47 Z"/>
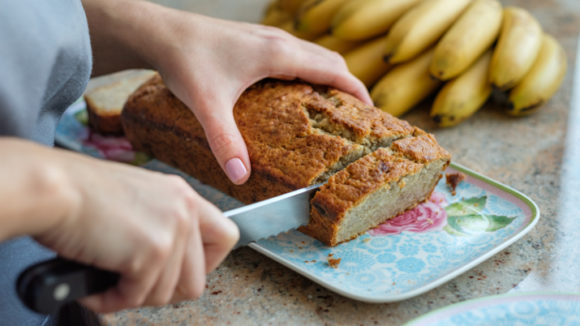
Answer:
<path fill-rule="evenodd" d="M 202 294 L 206 273 L 238 239 L 233 222 L 178 176 L 54 151 L 43 161 L 58 171 L 48 188 L 68 198 L 68 209 L 34 238 L 65 258 L 121 274 L 115 288 L 83 304 L 112 312 Z"/>

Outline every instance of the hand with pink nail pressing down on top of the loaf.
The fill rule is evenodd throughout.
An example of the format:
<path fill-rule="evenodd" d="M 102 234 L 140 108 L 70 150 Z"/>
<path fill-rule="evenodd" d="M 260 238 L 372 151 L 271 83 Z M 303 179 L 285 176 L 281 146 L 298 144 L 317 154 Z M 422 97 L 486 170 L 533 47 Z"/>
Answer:
<path fill-rule="evenodd" d="M 201 122 L 210 147 L 230 180 L 244 183 L 250 160 L 233 117 L 241 93 L 266 78 L 300 78 L 334 86 L 372 104 L 343 58 L 280 29 L 169 11 L 152 64 Z M 157 51 L 157 52 L 156 52 Z"/>

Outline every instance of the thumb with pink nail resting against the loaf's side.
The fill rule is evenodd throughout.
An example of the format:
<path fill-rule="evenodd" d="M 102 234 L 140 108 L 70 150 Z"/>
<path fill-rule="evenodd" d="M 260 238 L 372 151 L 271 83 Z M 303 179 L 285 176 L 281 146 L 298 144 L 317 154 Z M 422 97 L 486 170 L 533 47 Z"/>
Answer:
<path fill-rule="evenodd" d="M 238 130 L 231 108 L 209 105 L 198 110 L 209 146 L 228 178 L 235 184 L 243 184 L 250 177 L 250 157 L 246 143 Z"/>

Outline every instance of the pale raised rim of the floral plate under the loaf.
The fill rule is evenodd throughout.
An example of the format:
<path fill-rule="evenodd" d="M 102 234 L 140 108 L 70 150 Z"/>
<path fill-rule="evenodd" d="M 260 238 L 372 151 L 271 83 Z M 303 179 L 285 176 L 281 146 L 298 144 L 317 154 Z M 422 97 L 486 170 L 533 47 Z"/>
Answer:
<path fill-rule="evenodd" d="M 427 291 L 430 291 L 436 287 L 439 287 L 439 286 L 443 285 L 444 283 L 447 283 L 448 281 L 450 281 L 450 280 L 458 277 L 459 275 L 469 271 L 470 269 L 474 268 L 475 266 L 477 266 L 477 265 L 483 263 L 484 261 L 488 260 L 489 258 L 493 257 L 494 255 L 496 255 L 500 251 L 509 247 L 510 245 L 512 245 L 513 243 L 515 243 L 519 239 L 521 239 L 529 231 L 531 231 L 536 226 L 536 224 L 538 223 L 538 221 L 540 219 L 540 208 L 538 207 L 538 205 L 530 197 L 528 197 L 526 194 L 522 193 L 521 191 L 516 190 L 515 188 L 510 187 L 506 184 L 503 184 L 499 181 L 496 181 L 490 177 L 482 175 L 482 174 L 480 174 L 472 169 L 469 169 L 461 164 L 451 162 L 449 167 L 451 167 L 455 170 L 458 170 L 462 173 L 465 173 L 473 178 L 479 179 L 479 180 L 487 183 L 488 185 L 496 187 L 496 188 L 500 189 L 501 191 L 504 191 L 508 194 L 511 194 L 512 196 L 521 200 L 530 209 L 530 220 L 529 220 L 527 225 L 523 226 L 516 233 L 511 234 L 511 236 L 506 238 L 505 241 L 503 241 L 500 244 L 498 244 L 497 246 L 493 247 L 492 249 L 487 251 L 485 254 L 471 260 L 470 262 L 459 267 L 458 269 L 454 270 L 453 272 L 446 274 L 446 275 L 443 275 L 442 277 L 440 277 L 432 282 L 426 283 L 419 288 L 416 288 L 416 289 L 413 289 L 411 291 L 407 291 L 404 293 L 400 293 L 400 294 L 395 294 L 395 295 L 391 294 L 391 295 L 388 295 L 386 297 L 360 295 L 360 294 L 355 293 L 355 292 L 343 290 L 342 288 L 335 286 L 332 283 L 327 282 L 324 278 L 318 277 L 316 274 L 305 272 L 303 269 L 301 269 L 298 265 L 294 264 L 290 260 L 285 259 L 284 257 L 282 257 L 276 253 L 271 252 L 270 250 L 260 246 L 258 243 L 252 242 L 248 246 L 250 248 L 256 250 L 257 252 L 263 254 L 264 256 L 266 256 L 266 257 L 278 262 L 279 264 L 293 270 L 294 272 L 314 281 L 315 283 L 318 283 L 321 286 L 323 286 L 323 287 L 325 287 L 325 288 L 327 288 L 327 289 L 329 289 L 337 294 L 340 294 L 344 297 L 350 298 L 350 299 L 354 299 L 354 300 L 362 301 L 362 302 L 367 302 L 367 303 L 379 304 L 379 303 L 398 302 L 398 301 L 403 301 L 406 299 L 416 297 L 416 296 L 423 294 Z"/>

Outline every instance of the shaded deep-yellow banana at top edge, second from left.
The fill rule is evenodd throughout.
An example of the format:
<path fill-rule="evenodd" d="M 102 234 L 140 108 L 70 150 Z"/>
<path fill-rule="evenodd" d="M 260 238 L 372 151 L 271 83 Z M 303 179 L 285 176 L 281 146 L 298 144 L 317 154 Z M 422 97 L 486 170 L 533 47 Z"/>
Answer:
<path fill-rule="evenodd" d="M 299 10 L 296 18 L 296 30 L 316 38 L 330 29 L 334 14 L 348 0 L 307 0 Z"/>

